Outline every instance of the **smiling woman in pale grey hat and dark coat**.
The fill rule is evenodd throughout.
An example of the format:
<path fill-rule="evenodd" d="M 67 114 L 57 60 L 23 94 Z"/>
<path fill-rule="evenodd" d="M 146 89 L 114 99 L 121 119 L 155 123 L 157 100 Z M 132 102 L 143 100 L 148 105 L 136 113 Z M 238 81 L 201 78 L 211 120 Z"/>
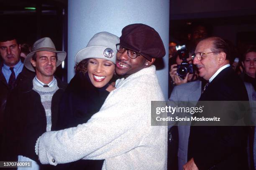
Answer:
<path fill-rule="evenodd" d="M 100 110 L 115 72 L 116 47 L 119 37 L 109 32 L 95 34 L 87 47 L 75 56 L 76 74 L 70 81 L 59 105 L 57 127 L 76 127 Z M 109 86 L 110 88 L 111 86 Z M 104 138 L 102 136 L 102 138 Z M 104 160 L 78 160 L 61 169 L 101 170 Z"/>

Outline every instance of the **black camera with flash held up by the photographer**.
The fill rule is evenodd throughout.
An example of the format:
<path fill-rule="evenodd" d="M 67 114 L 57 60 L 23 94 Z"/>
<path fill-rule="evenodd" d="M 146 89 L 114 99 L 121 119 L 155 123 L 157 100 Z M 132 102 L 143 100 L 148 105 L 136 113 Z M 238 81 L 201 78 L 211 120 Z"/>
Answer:
<path fill-rule="evenodd" d="M 186 77 L 187 73 L 195 73 L 195 66 L 187 62 L 189 58 L 189 52 L 186 48 L 186 45 L 176 45 L 176 50 L 179 58 L 182 60 L 180 65 L 177 65 L 177 74 L 179 77 Z"/>

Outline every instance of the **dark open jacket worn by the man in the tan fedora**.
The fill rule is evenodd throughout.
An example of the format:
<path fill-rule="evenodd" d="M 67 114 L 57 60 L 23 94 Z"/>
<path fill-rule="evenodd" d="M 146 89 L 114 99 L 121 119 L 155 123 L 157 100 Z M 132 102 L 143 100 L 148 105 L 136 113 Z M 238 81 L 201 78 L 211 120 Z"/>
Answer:
<path fill-rule="evenodd" d="M 52 126 L 57 122 L 59 101 L 67 87 L 67 83 L 56 80 L 59 89 L 51 101 Z M 35 144 L 38 137 L 46 132 L 46 124 L 46 113 L 40 95 L 33 90 L 33 79 L 20 82 L 10 92 L 6 103 L 3 159 L 17 161 L 17 156 L 23 155 L 38 161 Z"/>

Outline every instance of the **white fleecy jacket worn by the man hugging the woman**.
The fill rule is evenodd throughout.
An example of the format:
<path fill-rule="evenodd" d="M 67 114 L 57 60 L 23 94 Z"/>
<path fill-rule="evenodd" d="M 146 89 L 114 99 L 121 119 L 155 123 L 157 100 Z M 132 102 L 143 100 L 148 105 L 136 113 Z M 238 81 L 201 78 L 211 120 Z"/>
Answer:
<path fill-rule="evenodd" d="M 41 135 L 43 164 L 103 160 L 102 170 L 165 170 L 167 127 L 151 126 L 151 101 L 164 100 L 154 65 L 116 82 L 87 123 Z"/>

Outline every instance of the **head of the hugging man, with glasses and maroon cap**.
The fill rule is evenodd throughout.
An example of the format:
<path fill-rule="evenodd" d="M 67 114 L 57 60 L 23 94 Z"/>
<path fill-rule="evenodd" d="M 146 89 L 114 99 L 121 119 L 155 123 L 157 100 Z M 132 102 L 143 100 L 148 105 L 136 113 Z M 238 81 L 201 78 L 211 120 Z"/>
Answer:
<path fill-rule="evenodd" d="M 150 67 L 156 58 L 164 57 L 164 44 L 154 28 L 144 24 L 127 25 L 116 45 L 116 72 L 125 78 Z"/>

